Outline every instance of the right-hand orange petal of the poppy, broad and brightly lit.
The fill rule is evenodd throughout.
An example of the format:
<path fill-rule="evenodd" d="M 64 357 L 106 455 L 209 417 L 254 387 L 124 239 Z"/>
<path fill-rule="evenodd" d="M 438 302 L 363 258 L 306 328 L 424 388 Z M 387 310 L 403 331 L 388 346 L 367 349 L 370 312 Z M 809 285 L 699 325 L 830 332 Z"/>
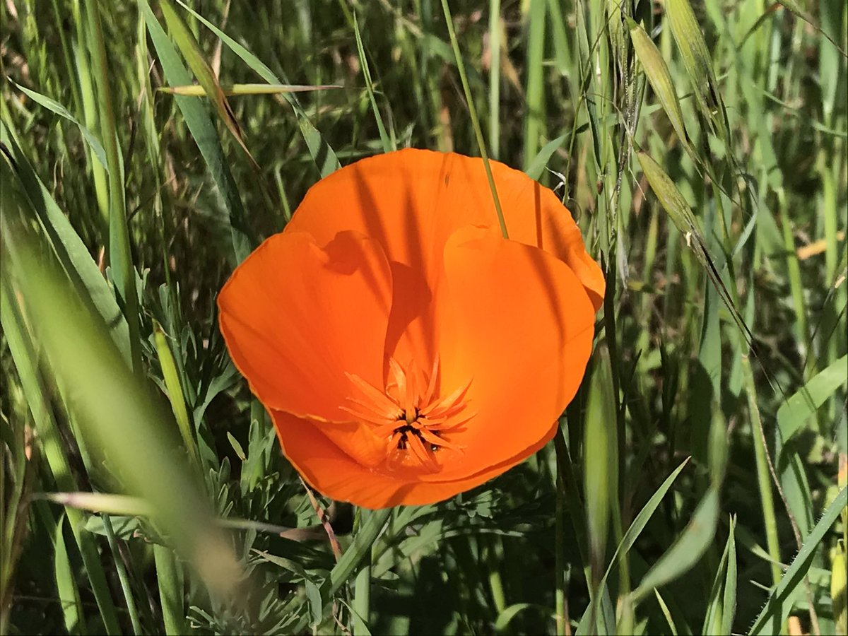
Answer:
<path fill-rule="evenodd" d="M 428 481 L 483 471 L 544 437 L 577 392 L 594 335 L 582 283 L 541 249 L 467 227 L 450 237 L 444 267 L 441 387 L 470 380 L 464 401 L 475 415 L 444 430 L 465 452 Z"/>

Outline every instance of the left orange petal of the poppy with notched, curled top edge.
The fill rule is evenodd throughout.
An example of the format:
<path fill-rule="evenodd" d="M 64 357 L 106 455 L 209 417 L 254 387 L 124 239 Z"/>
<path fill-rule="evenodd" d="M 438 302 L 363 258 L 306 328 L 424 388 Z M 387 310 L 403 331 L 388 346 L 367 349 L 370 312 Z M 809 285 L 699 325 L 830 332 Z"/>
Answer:
<path fill-rule="evenodd" d="M 346 373 L 382 386 L 392 275 L 380 245 L 338 232 L 320 248 L 283 232 L 239 265 L 218 296 L 232 360 L 268 408 L 348 421 Z"/>

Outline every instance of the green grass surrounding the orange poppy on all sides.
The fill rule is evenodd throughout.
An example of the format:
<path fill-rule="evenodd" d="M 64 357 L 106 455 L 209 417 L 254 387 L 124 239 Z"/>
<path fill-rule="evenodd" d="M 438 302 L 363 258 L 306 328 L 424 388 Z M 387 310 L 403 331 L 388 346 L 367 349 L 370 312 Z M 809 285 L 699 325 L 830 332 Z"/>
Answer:
<path fill-rule="evenodd" d="M 845 3 L 446 6 L 3 3 L 0 633 L 846 632 Z M 608 294 L 555 444 L 365 514 L 215 294 L 406 146 L 556 187 Z"/>

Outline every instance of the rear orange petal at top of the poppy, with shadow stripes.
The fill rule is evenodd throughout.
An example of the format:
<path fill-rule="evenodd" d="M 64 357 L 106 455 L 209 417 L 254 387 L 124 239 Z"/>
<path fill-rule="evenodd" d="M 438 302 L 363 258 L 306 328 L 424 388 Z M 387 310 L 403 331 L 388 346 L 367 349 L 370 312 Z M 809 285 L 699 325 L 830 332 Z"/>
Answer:
<path fill-rule="evenodd" d="M 599 309 L 604 276 L 586 253 L 568 209 L 554 192 L 520 170 L 498 161 L 489 164 L 510 239 L 564 260 Z M 432 289 L 440 274 L 444 243 L 467 225 L 498 226 L 483 160 L 406 148 L 361 159 L 318 181 L 287 229 L 310 232 L 319 244 L 338 229 L 362 232 L 382 244 L 390 262 L 402 265 L 395 276 L 411 276 Z M 417 277 L 421 272 L 423 281 Z M 404 285 L 408 287 L 409 283 Z M 410 299 L 415 298 L 425 306 L 427 298 L 422 298 L 421 290 L 410 294 Z M 420 313 L 410 304 L 399 304 L 396 311 L 404 309 L 408 310 L 402 316 L 406 323 Z"/>

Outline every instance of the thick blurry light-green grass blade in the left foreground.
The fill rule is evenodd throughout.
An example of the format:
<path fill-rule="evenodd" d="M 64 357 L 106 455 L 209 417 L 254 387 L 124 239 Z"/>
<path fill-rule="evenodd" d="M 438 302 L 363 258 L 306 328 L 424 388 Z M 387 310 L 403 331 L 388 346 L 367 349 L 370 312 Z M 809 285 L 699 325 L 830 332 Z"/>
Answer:
<path fill-rule="evenodd" d="M 159 534 L 192 562 L 210 593 L 228 599 L 235 610 L 243 607 L 248 589 L 240 584 L 242 567 L 216 527 L 209 501 L 173 453 L 176 425 L 167 425 L 167 411 L 123 363 L 102 322 L 70 293 L 52 260 L 39 258 L 22 227 L 7 232 L 14 234 L 15 248 L 4 274 L 10 270 L 6 275 L 22 298 L 60 393 L 73 395 L 87 448 L 98 449 L 126 493 L 151 507 Z"/>

